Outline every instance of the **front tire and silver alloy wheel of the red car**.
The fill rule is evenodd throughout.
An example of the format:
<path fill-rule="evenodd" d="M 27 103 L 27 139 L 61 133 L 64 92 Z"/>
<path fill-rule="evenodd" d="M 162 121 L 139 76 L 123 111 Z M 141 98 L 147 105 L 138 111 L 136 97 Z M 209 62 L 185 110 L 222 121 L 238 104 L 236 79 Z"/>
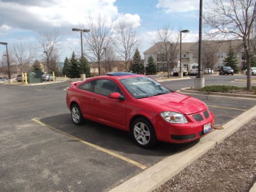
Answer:
<path fill-rule="evenodd" d="M 139 117 L 132 124 L 131 135 L 134 142 L 143 148 L 152 148 L 157 144 L 153 125 L 146 118 Z"/>

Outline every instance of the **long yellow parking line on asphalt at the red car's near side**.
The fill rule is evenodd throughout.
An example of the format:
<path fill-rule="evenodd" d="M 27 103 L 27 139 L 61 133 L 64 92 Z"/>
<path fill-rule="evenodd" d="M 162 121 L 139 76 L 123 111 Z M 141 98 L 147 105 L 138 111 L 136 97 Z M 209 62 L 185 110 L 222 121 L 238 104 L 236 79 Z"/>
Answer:
<path fill-rule="evenodd" d="M 116 153 L 114 153 L 114 152 L 111 152 L 111 151 L 109 151 L 109 150 L 106 150 L 105 148 L 102 148 L 102 147 L 97 146 L 97 145 L 95 145 L 95 144 L 92 144 L 92 143 L 89 143 L 89 142 L 84 141 L 84 140 L 82 140 L 82 139 L 79 139 L 79 138 L 77 138 L 77 137 L 75 137 L 75 136 L 73 136 L 73 135 L 70 135 L 70 134 L 66 133 L 66 132 L 60 131 L 60 130 L 58 130 L 58 129 L 56 129 L 56 128 L 50 126 L 50 125 L 47 125 L 47 124 L 45 124 L 45 123 L 42 123 L 40 120 L 38 120 L 38 119 L 36 119 L 36 118 L 34 118 L 34 119 L 32 119 L 32 120 L 35 121 L 35 122 L 37 122 L 37 123 L 39 123 L 39 124 L 41 124 L 41 125 L 47 126 L 47 127 L 48 127 L 49 129 L 51 129 L 51 130 L 54 130 L 54 131 L 56 131 L 56 132 L 58 132 L 58 133 L 61 133 L 61 134 L 63 134 L 63 135 L 66 135 L 66 136 L 68 136 L 68 137 L 71 137 L 71 138 L 73 138 L 73 139 L 75 139 L 75 140 L 77 140 L 77 141 L 80 141 L 80 142 L 83 143 L 83 144 L 87 144 L 87 145 L 89 145 L 89 146 L 91 146 L 91 147 L 93 147 L 93 148 L 96 148 L 96 149 L 99 150 L 99 151 L 102 151 L 102 152 L 104 152 L 104 153 L 107 153 L 107 154 L 109 154 L 109 155 L 112 155 L 112 156 L 114 156 L 114 157 L 117 157 L 117 158 L 119 158 L 119 159 L 122 159 L 123 161 L 129 162 L 129 163 L 131 163 L 131 164 L 133 164 L 133 165 L 136 165 L 136 166 L 140 167 L 141 169 L 145 169 L 145 168 L 146 168 L 145 165 L 142 165 L 142 164 L 140 164 L 140 163 L 138 163 L 138 162 L 136 162 L 136 161 L 134 161 L 134 160 L 132 160 L 132 159 L 123 157 L 123 156 L 118 155 L 118 154 L 116 154 Z"/>

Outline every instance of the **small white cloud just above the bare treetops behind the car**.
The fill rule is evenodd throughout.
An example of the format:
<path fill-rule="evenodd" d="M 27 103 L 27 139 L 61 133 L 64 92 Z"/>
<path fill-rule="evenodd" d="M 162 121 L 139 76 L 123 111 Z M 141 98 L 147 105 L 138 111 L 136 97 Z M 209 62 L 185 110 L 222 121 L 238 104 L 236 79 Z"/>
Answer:
<path fill-rule="evenodd" d="M 130 13 L 126 13 L 126 14 L 119 14 L 117 19 L 113 22 L 113 26 L 118 25 L 119 22 L 127 22 L 132 24 L 132 26 L 134 28 L 137 28 L 140 26 L 140 16 L 138 14 L 130 14 Z"/>

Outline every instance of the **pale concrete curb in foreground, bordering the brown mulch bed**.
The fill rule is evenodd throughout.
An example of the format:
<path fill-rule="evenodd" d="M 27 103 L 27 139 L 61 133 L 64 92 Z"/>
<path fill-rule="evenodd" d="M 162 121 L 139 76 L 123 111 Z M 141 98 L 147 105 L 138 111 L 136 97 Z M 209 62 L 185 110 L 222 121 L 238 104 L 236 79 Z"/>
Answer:
<path fill-rule="evenodd" d="M 185 151 L 165 158 L 164 160 L 144 170 L 144 172 L 125 181 L 110 191 L 130 192 L 154 190 L 181 172 L 181 170 L 183 170 L 188 164 L 198 159 L 216 144 L 219 144 L 225 138 L 239 130 L 241 126 L 251 120 L 254 116 L 256 116 L 256 106 L 224 124 L 223 130 L 215 130 L 214 132 L 201 138 L 199 143 L 196 145 L 188 148 Z"/>

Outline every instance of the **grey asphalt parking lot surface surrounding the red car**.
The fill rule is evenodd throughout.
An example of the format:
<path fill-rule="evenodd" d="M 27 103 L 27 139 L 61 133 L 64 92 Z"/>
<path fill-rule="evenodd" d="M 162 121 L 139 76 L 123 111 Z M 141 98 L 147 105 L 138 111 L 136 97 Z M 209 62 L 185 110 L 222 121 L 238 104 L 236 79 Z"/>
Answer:
<path fill-rule="evenodd" d="M 74 125 L 67 86 L 0 87 L 0 191 L 107 191 L 198 142 L 159 142 L 145 150 L 123 131 L 92 121 Z M 256 105 L 253 99 L 191 96 L 208 105 L 218 125 Z"/>

